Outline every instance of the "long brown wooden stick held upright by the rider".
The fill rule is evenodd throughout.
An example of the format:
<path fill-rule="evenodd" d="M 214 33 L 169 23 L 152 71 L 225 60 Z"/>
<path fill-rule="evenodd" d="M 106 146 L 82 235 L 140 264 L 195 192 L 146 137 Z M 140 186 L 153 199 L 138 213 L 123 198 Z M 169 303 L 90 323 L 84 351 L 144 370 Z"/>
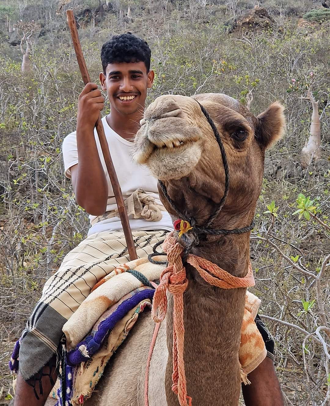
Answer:
<path fill-rule="evenodd" d="M 90 79 L 89 73 L 87 71 L 85 58 L 82 54 L 81 45 L 80 45 L 80 41 L 79 41 L 79 37 L 78 37 L 78 30 L 77 30 L 77 26 L 76 26 L 76 21 L 74 19 L 74 14 L 73 14 L 72 10 L 67 10 L 66 12 L 67 12 L 67 24 L 68 24 L 70 32 L 71 32 L 74 51 L 76 52 L 77 62 L 79 65 L 82 80 L 84 81 L 85 84 L 87 84 L 91 81 L 91 79 Z M 137 259 L 137 253 L 135 250 L 132 231 L 130 229 L 130 223 L 128 221 L 128 216 L 127 216 L 126 208 L 124 205 L 122 190 L 121 190 L 119 182 L 118 182 L 115 167 L 113 166 L 113 162 L 111 159 L 109 146 L 108 146 L 108 143 L 105 138 L 104 128 L 103 128 L 103 124 L 101 121 L 101 113 L 99 114 L 98 121 L 96 121 L 95 127 L 96 127 L 96 131 L 98 133 L 98 138 L 100 140 L 103 157 L 104 157 L 104 161 L 106 164 L 106 169 L 108 170 L 111 185 L 113 188 L 113 193 L 115 194 L 119 217 L 122 222 L 122 227 L 124 230 L 128 254 L 130 256 L 130 260 L 132 261 L 133 259 Z"/>

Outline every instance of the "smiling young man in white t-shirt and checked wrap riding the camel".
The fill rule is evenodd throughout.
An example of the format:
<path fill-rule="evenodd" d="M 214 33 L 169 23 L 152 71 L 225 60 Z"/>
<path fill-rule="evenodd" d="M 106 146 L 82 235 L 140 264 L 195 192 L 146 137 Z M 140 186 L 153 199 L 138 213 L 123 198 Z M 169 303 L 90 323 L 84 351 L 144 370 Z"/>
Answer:
<path fill-rule="evenodd" d="M 132 199 L 132 195 L 139 196 L 141 201 L 145 199 L 143 210 L 135 208 L 129 213 L 139 257 L 151 253 L 152 246 L 173 229 L 172 220 L 159 200 L 157 180 L 131 158 L 132 140 L 139 130 L 147 90 L 154 80 L 150 56 L 148 44 L 131 33 L 113 37 L 101 50 L 103 72 L 100 82 L 111 106 L 110 114 L 103 117 L 102 123 L 119 184 L 124 200 Z M 58 373 L 63 324 L 105 274 L 129 260 L 113 190 L 94 130 L 103 108 L 104 97 L 97 84 L 87 84 L 78 98 L 76 132 L 69 134 L 63 142 L 63 159 L 65 175 L 72 179 L 76 201 L 90 214 L 91 228 L 87 239 L 65 257 L 58 272 L 46 283 L 22 338 L 15 346 L 12 369 L 17 369 L 18 354 L 20 364 L 15 406 L 25 406 L 26 402 L 29 406 L 45 404 Z M 104 235 L 107 235 L 106 241 Z M 273 364 L 274 342 L 258 316 L 256 324 L 268 356 L 249 374 L 251 384 L 243 385 L 245 404 L 282 406 L 282 393 Z"/>

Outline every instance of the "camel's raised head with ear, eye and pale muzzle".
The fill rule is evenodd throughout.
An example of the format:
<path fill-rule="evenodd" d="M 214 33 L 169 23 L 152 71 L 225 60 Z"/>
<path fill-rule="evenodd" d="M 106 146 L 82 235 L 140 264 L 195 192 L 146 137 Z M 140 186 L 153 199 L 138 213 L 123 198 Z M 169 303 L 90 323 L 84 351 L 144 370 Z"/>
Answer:
<path fill-rule="evenodd" d="M 249 225 L 261 191 L 265 150 L 284 132 L 279 103 L 254 117 L 224 94 L 160 96 L 141 120 L 135 161 L 165 184 L 181 212 L 203 225 L 224 194 L 225 171 L 219 144 L 198 102 L 217 127 L 229 166 L 229 192 L 214 226 Z M 162 192 L 161 200 L 172 218 L 178 218 Z"/>

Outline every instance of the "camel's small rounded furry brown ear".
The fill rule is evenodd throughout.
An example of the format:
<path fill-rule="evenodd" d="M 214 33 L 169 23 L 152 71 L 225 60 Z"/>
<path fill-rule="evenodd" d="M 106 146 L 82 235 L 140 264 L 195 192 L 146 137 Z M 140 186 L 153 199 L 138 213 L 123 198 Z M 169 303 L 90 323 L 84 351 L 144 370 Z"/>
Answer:
<path fill-rule="evenodd" d="M 279 140 L 285 130 L 285 119 L 282 104 L 275 102 L 259 114 L 256 125 L 256 140 L 266 148 Z"/>

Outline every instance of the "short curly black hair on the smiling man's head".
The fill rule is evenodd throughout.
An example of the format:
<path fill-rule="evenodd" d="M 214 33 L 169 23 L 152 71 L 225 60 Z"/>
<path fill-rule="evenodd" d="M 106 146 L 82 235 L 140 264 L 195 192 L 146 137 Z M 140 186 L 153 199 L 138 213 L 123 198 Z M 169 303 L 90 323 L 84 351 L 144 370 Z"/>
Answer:
<path fill-rule="evenodd" d="M 135 37 L 132 32 L 114 35 L 112 39 L 102 45 L 101 61 L 103 72 L 108 63 L 121 62 L 144 62 L 147 73 L 150 70 L 151 50 L 148 43 L 141 38 Z"/>

